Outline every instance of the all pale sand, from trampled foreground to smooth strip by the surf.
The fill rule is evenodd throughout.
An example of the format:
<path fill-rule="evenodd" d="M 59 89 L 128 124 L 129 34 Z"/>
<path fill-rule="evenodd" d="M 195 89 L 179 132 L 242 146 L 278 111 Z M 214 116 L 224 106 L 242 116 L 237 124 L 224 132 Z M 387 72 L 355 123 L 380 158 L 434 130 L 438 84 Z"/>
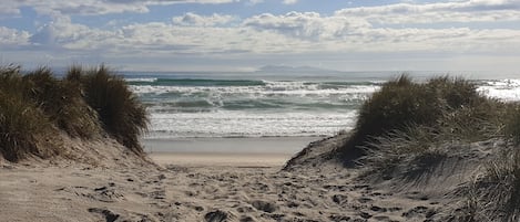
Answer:
<path fill-rule="evenodd" d="M 367 182 L 360 169 L 320 159 L 336 142 L 310 145 L 287 170 L 283 154 L 154 152 L 160 167 L 0 162 L 0 221 L 445 221 L 450 213 L 457 199 L 428 187 Z"/>

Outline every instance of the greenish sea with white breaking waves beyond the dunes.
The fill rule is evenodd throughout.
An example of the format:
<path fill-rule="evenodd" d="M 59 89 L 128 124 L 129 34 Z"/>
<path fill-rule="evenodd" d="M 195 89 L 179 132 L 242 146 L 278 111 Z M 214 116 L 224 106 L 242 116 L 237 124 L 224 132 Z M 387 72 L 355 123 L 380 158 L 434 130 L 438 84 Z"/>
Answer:
<path fill-rule="evenodd" d="M 409 72 L 416 81 L 449 72 Z M 353 129 L 359 107 L 398 72 L 123 72 L 146 106 L 145 139 L 325 137 Z M 478 91 L 520 101 L 520 77 L 463 73 Z M 520 75 L 519 75 L 520 76 Z"/>

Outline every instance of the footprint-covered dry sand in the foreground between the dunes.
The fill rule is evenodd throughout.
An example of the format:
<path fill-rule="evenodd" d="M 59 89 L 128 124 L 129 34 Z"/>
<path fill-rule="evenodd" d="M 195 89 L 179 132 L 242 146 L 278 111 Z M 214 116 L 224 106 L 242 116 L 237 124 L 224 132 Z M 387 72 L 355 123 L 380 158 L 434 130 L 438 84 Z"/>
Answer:
<path fill-rule="evenodd" d="M 163 170 L 4 166 L 0 216 L 1 221 L 341 221 L 377 218 L 386 209 L 396 212 L 378 220 L 399 219 L 406 210 L 391 201 L 376 209 L 374 201 L 388 193 L 351 184 L 348 173 L 279 172 L 281 167 L 233 166 L 233 161 L 167 165 Z"/>

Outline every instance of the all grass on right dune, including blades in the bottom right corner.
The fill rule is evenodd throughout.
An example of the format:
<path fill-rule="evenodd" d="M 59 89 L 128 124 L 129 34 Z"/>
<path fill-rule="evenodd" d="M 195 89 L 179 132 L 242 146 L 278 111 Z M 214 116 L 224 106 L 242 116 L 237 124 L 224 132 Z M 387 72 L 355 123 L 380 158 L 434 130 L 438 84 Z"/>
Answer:
<path fill-rule="evenodd" d="M 340 148 L 388 177 L 414 161 L 439 161 L 460 145 L 498 139 L 504 150 L 469 183 L 460 221 L 520 220 L 520 105 L 488 98 L 462 78 L 415 83 L 404 75 L 361 106 L 353 136 Z M 499 152 L 496 150 L 496 152 Z M 391 177 L 391 176 L 390 176 Z M 385 179 L 385 178 L 383 178 Z"/>

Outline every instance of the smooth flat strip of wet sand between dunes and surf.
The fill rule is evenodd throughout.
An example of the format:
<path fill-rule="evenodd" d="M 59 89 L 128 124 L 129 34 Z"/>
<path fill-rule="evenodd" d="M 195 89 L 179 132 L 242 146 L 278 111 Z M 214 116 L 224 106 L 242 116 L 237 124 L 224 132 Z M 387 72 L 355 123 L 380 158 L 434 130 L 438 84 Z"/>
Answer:
<path fill-rule="evenodd" d="M 282 168 L 322 137 L 143 139 L 161 166 Z"/>

